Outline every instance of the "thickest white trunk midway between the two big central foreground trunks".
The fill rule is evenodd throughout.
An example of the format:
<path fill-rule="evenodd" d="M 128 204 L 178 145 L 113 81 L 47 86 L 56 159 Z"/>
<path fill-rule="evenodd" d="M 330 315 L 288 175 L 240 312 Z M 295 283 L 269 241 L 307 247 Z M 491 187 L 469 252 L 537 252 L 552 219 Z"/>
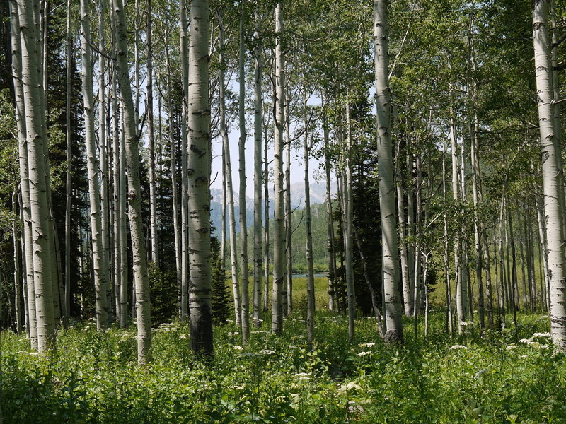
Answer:
<path fill-rule="evenodd" d="M 275 5 L 275 128 L 274 165 L 275 212 L 273 223 L 273 292 L 271 300 L 272 331 L 283 330 L 283 291 L 285 278 L 285 226 L 283 210 L 283 128 L 284 128 L 284 59 L 282 52 L 283 16 L 282 4 Z"/>

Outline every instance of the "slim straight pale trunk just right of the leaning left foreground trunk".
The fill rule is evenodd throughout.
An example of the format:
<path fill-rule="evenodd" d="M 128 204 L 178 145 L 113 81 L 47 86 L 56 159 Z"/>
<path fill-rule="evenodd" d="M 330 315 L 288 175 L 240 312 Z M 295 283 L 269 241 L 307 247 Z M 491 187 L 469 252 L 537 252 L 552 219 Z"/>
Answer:
<path fill-rule="evenodd" d="M 147 0 L 146 42 L 147 42 L 147 122 L 149 139 L 149 220 L 151 226 L 151 261 L 158 267 L 157 250 L 157 200 L 155 183 L 155 146 L 154 146 L 154 51 L 151 40 L 151 0 Z M 161 117 L 160 117 L 161 119 Z"/>

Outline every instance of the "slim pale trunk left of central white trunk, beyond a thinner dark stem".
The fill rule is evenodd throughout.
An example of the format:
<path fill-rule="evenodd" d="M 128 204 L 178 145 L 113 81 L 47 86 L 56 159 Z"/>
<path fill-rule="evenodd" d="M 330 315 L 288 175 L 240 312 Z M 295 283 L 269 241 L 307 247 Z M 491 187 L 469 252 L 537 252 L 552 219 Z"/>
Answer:
<path fill-rule="evenodd" d="M 262 175 L 261 175 L 261 147 L 262 147 L 262 48 L 260 39 L 260 16 L 255 11 L 255 30 L 253 37 L 257 43 L 254 52 L 254 79 L 253 79 L 253 324 L 260 326 L 262 313 L 261 279 L 262 279 L 262 242 L 261 242 L 261 201 L 262 201 Z"/>

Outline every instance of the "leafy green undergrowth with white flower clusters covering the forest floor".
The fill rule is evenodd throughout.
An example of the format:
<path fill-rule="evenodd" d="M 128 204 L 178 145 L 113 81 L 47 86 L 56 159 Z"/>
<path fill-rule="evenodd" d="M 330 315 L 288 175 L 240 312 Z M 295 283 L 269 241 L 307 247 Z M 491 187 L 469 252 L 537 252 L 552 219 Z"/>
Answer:
<path fill-rule="evenodd" d="M 566 423 L 565 356 L 533 337 L 548 319 L 520 315 L 517 334 L 483 338 L 431 320 L 426 340 L 407 320 L 405 346 L 391 347 L 374 319 L 357 321 L 350 344 L 345 317 L 320 314 L 312 349 L 299 314 L 281 336 L 254 329 L 245 347 L 229 324 L 214 329 L 211 360 L 190 353 L 186 324 L 162 324 L 144 367 L 134 329 L 76 324 L 45 357 L 4 332 L 4 423 Z"/>

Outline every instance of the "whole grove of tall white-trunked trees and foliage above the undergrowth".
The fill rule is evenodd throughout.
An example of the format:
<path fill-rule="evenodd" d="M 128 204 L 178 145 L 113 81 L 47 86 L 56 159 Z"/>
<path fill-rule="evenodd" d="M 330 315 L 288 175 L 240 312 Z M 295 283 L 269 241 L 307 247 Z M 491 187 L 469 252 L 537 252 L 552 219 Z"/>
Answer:
<path fill-rule="evenodd" d="M 350 343 L 373 317 L 386 346 L 470 327 L 517 342 L 518 312 L 536 312 L 566 348 L 564 4 L 9 0 L 0 15 L 0 329 L 31 349 L 93 317 L 136 326 L 146 365 L 178 320 L 212 357 L 218 325 L 245 347 L 304 313 L 314 350 L 327 312 Z"/>

